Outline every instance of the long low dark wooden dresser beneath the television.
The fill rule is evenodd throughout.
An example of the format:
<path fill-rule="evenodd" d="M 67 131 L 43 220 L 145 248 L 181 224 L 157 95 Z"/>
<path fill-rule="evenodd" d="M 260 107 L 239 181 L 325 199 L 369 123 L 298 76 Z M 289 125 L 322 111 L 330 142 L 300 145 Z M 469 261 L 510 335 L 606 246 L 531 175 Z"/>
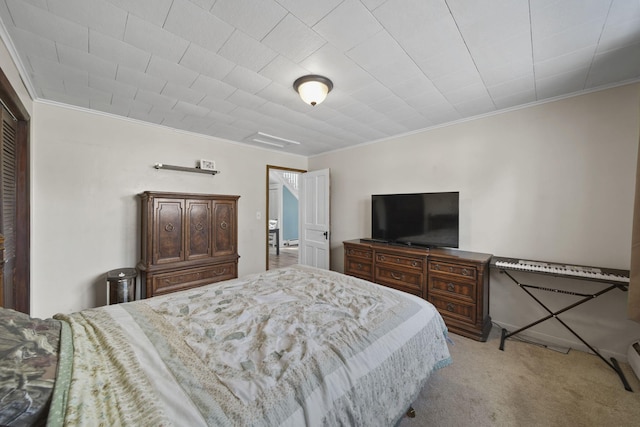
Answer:
<path fill-rule="evenodd" d="M 344 272 L 431 302 L 453 333 L 486 341 L 490 254 L 344 242 Z"/>

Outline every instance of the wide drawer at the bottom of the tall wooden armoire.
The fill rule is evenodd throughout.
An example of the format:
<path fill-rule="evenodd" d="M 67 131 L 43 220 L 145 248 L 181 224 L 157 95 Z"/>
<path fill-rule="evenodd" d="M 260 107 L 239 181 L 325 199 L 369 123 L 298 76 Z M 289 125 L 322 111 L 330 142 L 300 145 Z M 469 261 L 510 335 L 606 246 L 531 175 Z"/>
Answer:
<path fill-rule="evenodd" d="M 150 277 L 152 295 L 182 291 L 238 277 L 237 263 L 230 262 L 189 270 L 158 273 Z M 149 289 L 147 290 L 147 292 Z"/>

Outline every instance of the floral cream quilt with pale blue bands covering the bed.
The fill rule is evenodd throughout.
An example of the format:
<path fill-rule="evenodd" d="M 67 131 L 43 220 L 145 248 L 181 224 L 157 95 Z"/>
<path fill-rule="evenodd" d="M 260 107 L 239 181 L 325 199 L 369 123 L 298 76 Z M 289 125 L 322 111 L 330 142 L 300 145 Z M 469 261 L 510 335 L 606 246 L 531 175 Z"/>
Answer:
<path fill-rule="evenodd" d="M 391 426 L 451 363 L 428 302 L 304 266 L 47 322 L 51 426 Z"/>

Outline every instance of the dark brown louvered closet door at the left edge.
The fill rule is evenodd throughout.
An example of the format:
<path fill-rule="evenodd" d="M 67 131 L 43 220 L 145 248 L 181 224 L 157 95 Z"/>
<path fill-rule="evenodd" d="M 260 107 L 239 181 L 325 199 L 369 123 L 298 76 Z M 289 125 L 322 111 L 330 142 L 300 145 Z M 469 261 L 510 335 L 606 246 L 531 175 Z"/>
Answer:
<path fill-rule="evenodd" d="M 0 233 L 4 236 L 3 296 L 13 301 L 14 273 L 16 266 L 16 122 L 2 108 L 2 135 L 0 144 Z"/>

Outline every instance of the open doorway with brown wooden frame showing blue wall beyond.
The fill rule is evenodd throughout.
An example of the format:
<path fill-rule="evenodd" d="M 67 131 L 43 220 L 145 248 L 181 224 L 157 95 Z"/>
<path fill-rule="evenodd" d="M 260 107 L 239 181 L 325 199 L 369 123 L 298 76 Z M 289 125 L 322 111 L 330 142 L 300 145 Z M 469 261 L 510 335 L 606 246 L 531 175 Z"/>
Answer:
<path fill-rule="evenodd" d="M 267 165 L 267 270 L 298 263 L 298 186 L 305 172 Z"/>

